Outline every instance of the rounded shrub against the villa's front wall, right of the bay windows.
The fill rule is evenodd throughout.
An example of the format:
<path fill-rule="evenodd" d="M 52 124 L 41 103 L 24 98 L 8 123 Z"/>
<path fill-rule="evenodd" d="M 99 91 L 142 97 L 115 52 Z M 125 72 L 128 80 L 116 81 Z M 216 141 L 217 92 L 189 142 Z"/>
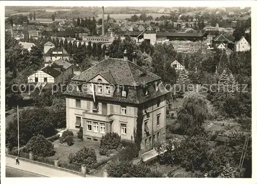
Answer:
<path fill-rule="evenodd" d="M 99 153 L 101 155 L 108 155 L 109 153 L 121 147 L 121 139 L 117 133 L 109 132 L 105 134 L 100 140 Z"/>

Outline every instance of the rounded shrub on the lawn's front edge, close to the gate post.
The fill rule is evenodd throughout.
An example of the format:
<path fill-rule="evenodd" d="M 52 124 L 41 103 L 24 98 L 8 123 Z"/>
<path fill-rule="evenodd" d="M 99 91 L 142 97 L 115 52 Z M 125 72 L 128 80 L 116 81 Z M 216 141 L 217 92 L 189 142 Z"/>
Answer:
<path fill-rule="evenodd" d="M 73 163 L 80 166 L 84 164 L 89 168 L 93 167 L 97 163 L 96 151 L 93 148 L 83 147 L 76 152 Z"/>

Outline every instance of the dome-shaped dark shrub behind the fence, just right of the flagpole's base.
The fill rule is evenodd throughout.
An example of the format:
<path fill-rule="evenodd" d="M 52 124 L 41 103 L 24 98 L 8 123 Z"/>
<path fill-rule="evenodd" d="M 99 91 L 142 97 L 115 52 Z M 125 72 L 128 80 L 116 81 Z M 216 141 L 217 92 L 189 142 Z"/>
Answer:
<path fill-rule="evenodd" d="M 53 156 L 55 151 L 51 141 L 47 140 L 43 135 L 33 136 L 29 141 L 24 152 L 29 153 L 32 151 L 38 156 Z"/>

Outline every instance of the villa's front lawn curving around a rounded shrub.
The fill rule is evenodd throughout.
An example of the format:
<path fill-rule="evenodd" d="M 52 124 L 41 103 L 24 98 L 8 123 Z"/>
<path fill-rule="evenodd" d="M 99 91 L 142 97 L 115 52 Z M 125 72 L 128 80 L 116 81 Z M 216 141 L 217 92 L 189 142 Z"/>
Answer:
<path fill-rule="evenodd" d="M 98 149 L 100 147 L 100 142 L 95 141 L 95 140 L 84 139 L 82 141 L 78 138 L 74 138 L 74 145 L 72 145 L 72 146 L 60 144 L 59 140 L 55 140 L 53 142 L 53 146 L 54 146 L 54 150 L 56 151 L 56 154 L 50 158 L 54 159 L 54 158 L 58 157 L 61 161 L 64 161 L 64 162 L 68 162 L 68 155 L 70 153 L 75 154 L 83 146 L 95 149 L 98 162 L 108 158 L 107 156 L 103 156 L 103 155 L 99 154 Z"/>

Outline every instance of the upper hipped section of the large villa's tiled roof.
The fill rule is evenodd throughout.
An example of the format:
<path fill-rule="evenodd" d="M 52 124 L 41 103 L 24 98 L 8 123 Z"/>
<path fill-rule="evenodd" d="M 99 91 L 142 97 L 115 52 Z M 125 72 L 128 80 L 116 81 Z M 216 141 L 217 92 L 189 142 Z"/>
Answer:
<path fill-rule="evenodd" d="M 144 70 L 129 60 L 108 58 L 82 72 L 80 75 L 75 76 L 72 80 L 87 82 L 99 73 L 106 77 L 106 79 L 113 80 L 115 84 L 124 86 L 135 86 L 135 84 L 139 86 L 143 83 L 147 84 L 161 79 L 159 76 Z"/>

